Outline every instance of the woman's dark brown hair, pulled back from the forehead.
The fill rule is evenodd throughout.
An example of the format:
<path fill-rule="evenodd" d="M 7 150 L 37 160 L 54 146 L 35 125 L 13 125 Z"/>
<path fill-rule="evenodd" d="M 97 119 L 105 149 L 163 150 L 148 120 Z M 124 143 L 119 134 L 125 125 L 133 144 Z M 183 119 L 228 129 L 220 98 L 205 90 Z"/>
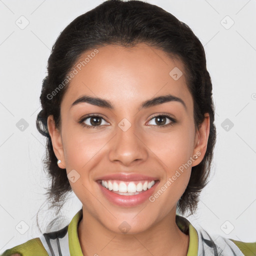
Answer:
<path fill-rule="evenodd" d="M 58 35 L 47 63 L 47 75 L 43 79 L 40 95 L 41 110 L 37 114 L 36 127 L 46 136 L 44 170 L 51 184 L 47 188 L 50 207 L 60 209 L 71 186 L 66 171 L 59 168 L 47 129 L 47 117 L 53 115 L 55 125 L 60 126 L 60 103 L 68 83 L 56 95 L 52 91 L 63 82 L 85 51 L 108 44 L 125 47 L 143 42 L 179 58 L 185 68 L 188 90 L 193 98 L 195 127 L 209 113 L 210 130 L 207 149 L 202 161 L 192 166 L 188 185 L 177 202 L 181 214 L 195 213 L 201 189 L 207 184 L 216 140 L 212 84 L 206 69 L 203 46 L 188 25 L 179 21 L 164 9 L 140 0 L 107 0 L 76 17 Z"/>

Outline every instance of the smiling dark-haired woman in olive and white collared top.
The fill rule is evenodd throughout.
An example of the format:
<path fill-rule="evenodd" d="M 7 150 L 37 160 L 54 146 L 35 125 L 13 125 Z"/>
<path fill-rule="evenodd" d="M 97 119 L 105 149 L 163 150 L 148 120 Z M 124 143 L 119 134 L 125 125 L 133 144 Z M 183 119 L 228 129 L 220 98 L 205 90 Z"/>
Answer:
<path fill-rule="evenodd" d="M 2 255 L 254 255 L 194 213 L 216 139 L 203 46 L 160 7 L 109 0 L 74 19 L 48 59 L 37 128 L 48 200 L 73 190 L 69 225 Z"/>

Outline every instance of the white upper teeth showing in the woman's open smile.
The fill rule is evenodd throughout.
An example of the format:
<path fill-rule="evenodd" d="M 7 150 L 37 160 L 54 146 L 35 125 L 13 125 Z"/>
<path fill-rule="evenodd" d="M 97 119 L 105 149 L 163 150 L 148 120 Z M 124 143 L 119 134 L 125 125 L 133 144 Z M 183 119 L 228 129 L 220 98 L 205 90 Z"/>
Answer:
<path fill-rule="evenodd" d="M 137 182 L 136 182 L 137 183 Z M 101 180 L 101 185 L 107 188 L 108 190 L 113 191 L 119 191 L 119 192 L 140 192 L 142 190 L 147 190 L 151 188 L 154 184 L 154 180 L 147 181 L 138 181 L 137 184 L 135 184 L 134 181 L 126 182 L 126 181 L 120 181 L 118 184 L 118 181 L 114 180 Z"/>

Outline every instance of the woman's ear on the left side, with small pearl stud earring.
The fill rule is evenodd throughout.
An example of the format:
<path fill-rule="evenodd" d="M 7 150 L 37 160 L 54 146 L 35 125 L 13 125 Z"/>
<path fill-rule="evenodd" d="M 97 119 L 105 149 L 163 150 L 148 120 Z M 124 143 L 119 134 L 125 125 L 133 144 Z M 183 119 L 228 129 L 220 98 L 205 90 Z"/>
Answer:
<path fill-rule="evenodd" d="M 53 151 L 57 157 L 58 160 L 61 160 L 61 162 L 58 165 L 58 167 L 64 169 L 65 168 L 65 159 L 64 159 L 64 150 L 62 145 L 62 138 L 61 134 L 58 128 L 55 126 L 55 122 L 53 119 L 53 115 L 49 115 L 47 118 L 47 126 L 48 131 L 51 137 L 51 143 L 53 147 Z"/>

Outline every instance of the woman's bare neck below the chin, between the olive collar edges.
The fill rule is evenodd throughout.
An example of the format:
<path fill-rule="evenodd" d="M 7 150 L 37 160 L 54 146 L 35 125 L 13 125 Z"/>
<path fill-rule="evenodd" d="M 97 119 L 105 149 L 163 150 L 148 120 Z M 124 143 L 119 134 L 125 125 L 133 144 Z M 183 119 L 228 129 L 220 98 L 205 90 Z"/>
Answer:
<path fill-rule="evenodd" d="M 175 214 L 168 214 L 157 224 L 136 234 L 118 234 L 106 229 L 83 207 L 78 224 L 78 238 L 83 255 L 177 255 L 186 256 L 189 236 L 176 225 Z"/>

